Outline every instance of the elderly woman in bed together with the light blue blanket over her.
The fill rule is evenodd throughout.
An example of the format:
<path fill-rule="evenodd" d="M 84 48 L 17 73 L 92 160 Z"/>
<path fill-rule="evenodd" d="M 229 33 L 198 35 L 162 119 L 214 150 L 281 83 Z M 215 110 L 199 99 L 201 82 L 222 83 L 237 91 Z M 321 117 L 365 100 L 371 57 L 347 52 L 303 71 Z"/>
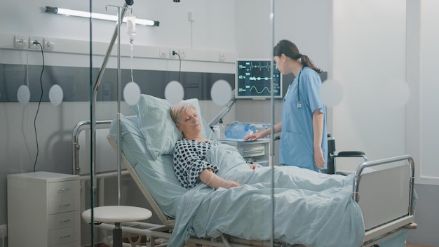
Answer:
<path fill-rule="evenodd" d="M 349 176 L 297 166 L 249 168 L 235 147 L 203 138 L 194 105 L 182 102 L 170 114 L 183 133 L 174 148 L 174 171 L 189 190 L 178 203 L 168 246 L 183 246 L 189 235 L 271 239 L 265 224 L 271 220 L 276 222 L 274 238 L 285 243 L 361 245 L 365 229 Z M 273 219 L 267 213 L 271 205 Z"/>

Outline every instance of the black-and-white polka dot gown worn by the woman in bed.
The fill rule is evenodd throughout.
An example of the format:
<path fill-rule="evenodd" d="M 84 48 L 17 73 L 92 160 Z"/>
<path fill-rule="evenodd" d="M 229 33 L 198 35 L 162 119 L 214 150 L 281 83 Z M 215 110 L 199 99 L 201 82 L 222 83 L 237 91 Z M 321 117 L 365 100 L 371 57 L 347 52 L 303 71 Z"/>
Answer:
<path fill-rule="evenodd" d="M 192 189 L 201 180 L 200 173 L 207 168 L 214 173 L 219 171 L 217 166 L 205 161 L 205 154 L 210 147 L 220 145 L 220 142 L 187 140 L 182 138 L 177 141 L 174 148 L 174 172 L 182 187 Z"/>

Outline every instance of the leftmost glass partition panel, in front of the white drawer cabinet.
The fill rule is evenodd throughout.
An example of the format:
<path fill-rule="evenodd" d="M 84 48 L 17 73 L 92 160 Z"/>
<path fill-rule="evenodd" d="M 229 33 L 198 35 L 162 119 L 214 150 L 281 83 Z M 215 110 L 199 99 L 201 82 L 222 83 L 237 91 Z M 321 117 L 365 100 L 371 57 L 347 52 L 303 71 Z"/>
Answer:
<path fill-rule="evenodd" d="M 47 4 L 2 4 L 0 19 L 11 23 L 0 27 L 2 246 L 90 243 L 90 227 L 81 219 L 90 206 L 90 180 L 72 166 L 81 146 L 81 165 L 90 168 L 84 159 L 90 156 L 90 21 L 61 15 L 62 8 L 89 13 L 90 1 Z M 81 121 L 81 145 L 74 145 Z"/>

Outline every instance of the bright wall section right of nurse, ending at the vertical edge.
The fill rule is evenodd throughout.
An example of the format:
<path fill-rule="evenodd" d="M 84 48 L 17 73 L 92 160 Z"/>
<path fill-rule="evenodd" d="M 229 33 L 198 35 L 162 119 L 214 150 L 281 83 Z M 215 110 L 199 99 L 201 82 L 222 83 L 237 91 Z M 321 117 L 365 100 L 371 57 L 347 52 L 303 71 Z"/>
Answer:
<path fill-rule="evenodd" d="M 405 81 L 405 2 L 333 2 L 333 79 L 344 89 L 334 108 L 337 149 L 362 150 L 370 160 L 405 154 L 405 105 L 382 94 L 391 81 Z"/>

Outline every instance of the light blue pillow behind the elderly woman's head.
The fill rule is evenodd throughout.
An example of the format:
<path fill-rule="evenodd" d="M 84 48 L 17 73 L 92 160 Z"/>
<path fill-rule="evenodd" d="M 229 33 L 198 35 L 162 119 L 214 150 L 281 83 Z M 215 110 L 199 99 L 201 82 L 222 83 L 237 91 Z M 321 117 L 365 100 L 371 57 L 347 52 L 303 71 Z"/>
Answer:
<path fill-rule="evenodd" d="M 215 138 L 208 123 L 201 116 L 200 105 L 197 99 L 185 100 L 195 106 L 198 116 L 202 119 L 204 138 Z M 151 95 L 140 95 L 140 100 L 136 105 L 130 106 L 139 121 L 139 128 L 144 135 L 147 150 L 153 159 L 157 159 L 162 154 L 173 154 L 175 142 L 183 138 L 178 131 L 173 119 L 170 117 L 171 104 L 168 100 L 156 98 Z"/>

